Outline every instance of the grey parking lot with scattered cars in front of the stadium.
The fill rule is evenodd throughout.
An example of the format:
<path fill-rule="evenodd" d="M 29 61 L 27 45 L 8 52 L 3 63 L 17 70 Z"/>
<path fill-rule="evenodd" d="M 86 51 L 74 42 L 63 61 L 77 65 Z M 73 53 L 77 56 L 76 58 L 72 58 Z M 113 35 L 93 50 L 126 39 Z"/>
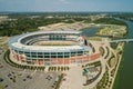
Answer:
<path fill-rule="evenodd" d="M 0 55 L 0 83 L 4 89 L 54 89 L 60 72 L 22 70 L 9 66 Z"/>

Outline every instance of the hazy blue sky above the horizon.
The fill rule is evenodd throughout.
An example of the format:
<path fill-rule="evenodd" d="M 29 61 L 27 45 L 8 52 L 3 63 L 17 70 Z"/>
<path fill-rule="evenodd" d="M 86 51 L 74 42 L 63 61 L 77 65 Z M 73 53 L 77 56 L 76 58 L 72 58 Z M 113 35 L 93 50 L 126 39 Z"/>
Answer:
<path fill-rule="evenodd" d="M 133 12 L 133 0 L 0 0 L 0 12 Z"/>

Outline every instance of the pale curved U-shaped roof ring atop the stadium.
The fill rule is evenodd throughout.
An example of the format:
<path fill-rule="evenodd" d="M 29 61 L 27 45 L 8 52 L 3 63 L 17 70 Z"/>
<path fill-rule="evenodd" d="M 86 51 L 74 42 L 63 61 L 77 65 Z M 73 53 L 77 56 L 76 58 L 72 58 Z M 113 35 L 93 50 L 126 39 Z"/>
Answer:
<path fill-rule="evenodd" d="M 90 47 L 86 46 L 25 46 L 20 41 L 21 39 L 34 36 L 34 34 L 45 34 L 45 33 L 69 33 L 69 34 L 80 34 L 81 31 L 35 31 L 30 33 L 23 33 L 21 36 L 17 36 L 9 41 L 9 46 L 13 49 L 19 49 L 21 51 L 40 51 L 40 52 L 62 52 L 62 51 L 74 51 L 74 50 L 90 50 Z"/>

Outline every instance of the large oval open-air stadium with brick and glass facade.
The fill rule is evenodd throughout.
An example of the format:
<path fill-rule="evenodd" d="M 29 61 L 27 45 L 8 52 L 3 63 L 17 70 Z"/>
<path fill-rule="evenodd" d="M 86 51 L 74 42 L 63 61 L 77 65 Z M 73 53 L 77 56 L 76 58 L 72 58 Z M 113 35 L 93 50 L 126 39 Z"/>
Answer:
<path fill-rule="evenodd" d="M 10 58 L 21 65 L 75 65 L 99 58 L 81 31 L 35 31 L 9 40 Z"/>

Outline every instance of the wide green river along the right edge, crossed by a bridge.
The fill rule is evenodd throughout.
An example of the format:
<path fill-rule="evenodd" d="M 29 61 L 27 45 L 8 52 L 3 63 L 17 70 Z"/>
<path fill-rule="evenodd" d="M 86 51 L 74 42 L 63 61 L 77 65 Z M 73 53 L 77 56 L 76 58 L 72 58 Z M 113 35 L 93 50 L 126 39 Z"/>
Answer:
<path fill-rule="evenodd" d="M 124 21 L 127 24 L 127 34 L 126 39 L 133 38 L 133 22 L 120 18 L 117 20 Z M 121 69 L 117 73 L 119 78 L 116 79 L 115 89 L 133 89 L 133 42 L 126 42 L 124 46 L 124 52 L 122 58 Z"/>

